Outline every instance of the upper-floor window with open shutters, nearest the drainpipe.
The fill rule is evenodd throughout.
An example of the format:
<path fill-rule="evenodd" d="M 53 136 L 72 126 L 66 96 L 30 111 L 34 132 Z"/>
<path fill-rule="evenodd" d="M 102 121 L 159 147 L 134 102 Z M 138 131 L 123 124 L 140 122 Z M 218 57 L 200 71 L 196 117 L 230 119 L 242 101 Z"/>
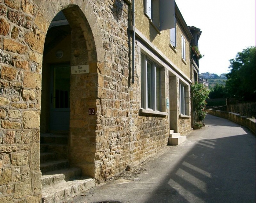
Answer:
<path fill-rule="evenodd" d="M 160 30 L 174 28 L 174 0 L 144 0 L 144 13 Z"/>

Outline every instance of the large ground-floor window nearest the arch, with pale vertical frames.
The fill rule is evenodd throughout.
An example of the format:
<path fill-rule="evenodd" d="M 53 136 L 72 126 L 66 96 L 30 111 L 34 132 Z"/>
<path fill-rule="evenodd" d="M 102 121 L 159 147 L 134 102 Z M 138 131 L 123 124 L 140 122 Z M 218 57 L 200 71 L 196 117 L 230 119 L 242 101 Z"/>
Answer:
<path fill-rule="evenodd" d="M 161 70 L 160 66 L 141 55 L 141 107 L 161 111 Z"/>

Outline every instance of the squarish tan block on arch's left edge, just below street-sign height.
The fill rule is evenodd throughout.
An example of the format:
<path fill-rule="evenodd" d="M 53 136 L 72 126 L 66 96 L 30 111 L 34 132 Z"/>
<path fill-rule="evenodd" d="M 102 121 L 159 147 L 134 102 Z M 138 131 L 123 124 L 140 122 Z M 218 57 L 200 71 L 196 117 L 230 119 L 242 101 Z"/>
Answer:
<path fill-rule="evenodd" d="M 31 89 L 41 90 L 41 75 L 38 73 L 25 72 L 23 86 Z"/>

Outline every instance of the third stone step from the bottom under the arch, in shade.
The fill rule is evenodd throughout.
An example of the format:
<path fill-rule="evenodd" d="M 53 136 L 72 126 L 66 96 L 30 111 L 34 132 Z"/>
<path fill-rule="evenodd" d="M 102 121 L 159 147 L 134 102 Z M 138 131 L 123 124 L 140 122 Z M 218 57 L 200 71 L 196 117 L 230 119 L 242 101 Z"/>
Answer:
<path fill-rule="evenodd" d="M 49 172 L 53 170 L 59 170 L 63 168 L 68 168 L 69 162 L 67 160 L 55 160 L 45 163 L 40 163 L 40 170 L 42 173 Z"/>

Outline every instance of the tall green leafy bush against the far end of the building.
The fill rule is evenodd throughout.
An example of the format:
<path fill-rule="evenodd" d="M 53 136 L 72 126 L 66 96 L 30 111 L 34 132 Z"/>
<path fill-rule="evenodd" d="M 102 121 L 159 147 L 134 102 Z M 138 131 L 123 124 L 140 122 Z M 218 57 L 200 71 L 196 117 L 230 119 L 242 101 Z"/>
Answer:
<path fill-rule="evenodd" d="M 193 100 L 195 121 L 202 121 L 206 117 L 206 99 L 208 99 L 209 90 L 202 83 L 191 85 L 191 97 Z"/>

